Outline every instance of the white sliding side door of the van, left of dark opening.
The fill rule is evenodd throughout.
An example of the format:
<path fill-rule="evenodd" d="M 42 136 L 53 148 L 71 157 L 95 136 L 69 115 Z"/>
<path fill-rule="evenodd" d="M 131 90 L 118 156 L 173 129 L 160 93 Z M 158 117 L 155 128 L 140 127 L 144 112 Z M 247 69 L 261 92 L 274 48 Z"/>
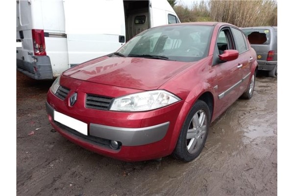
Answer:
<path fill-rule="evenodd" d="M 64 0 L 70 67 L 125 43 L 123 0 Z"/>

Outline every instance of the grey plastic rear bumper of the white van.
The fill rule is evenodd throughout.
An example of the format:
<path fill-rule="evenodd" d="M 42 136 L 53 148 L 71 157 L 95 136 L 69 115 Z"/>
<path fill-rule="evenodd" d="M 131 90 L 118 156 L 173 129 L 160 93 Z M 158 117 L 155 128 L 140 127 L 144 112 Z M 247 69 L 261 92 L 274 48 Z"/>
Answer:
<path fill-rule="evenodd" d="M 17 70 L 33 79 L 53 79 L 53 72 L 49 56 L 32 56 L 36 62 L 16 59 Z"/>

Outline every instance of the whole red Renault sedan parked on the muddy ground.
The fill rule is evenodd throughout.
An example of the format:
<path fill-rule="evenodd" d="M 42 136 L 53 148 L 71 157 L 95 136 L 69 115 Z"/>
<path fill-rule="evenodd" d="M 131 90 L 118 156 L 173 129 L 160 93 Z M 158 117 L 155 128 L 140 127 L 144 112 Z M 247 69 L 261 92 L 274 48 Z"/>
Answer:
<path fill-rule="evenodd" d="M 173 154 L 188 162 L 210 123 L 252 97 L 256 71 L 256 53 L 234 25 L 159 26 L 62 73 L 46 108 L 55 130 L 98 154 L 124 161 Z"/>

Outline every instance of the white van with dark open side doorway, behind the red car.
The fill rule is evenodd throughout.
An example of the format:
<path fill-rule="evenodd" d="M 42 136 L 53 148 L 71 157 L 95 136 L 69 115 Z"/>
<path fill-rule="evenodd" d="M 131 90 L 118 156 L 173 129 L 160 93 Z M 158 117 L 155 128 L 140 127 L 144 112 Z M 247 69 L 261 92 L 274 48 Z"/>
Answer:
<path fill-rule="evenodd" d="M 147 28 L 180 23 L 167 0 L 17 0 L 17 70 L 52 79 Z"/>

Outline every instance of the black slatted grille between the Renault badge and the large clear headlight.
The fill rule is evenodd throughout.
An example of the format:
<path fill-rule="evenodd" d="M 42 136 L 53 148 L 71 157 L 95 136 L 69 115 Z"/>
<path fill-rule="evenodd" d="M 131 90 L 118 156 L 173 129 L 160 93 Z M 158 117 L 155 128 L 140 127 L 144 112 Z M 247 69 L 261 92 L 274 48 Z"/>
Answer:
<path fill-rule="evenodd" d="M 86 107 L 97 110 L 109 110 L 113 98 L 87 94 Z"/>

